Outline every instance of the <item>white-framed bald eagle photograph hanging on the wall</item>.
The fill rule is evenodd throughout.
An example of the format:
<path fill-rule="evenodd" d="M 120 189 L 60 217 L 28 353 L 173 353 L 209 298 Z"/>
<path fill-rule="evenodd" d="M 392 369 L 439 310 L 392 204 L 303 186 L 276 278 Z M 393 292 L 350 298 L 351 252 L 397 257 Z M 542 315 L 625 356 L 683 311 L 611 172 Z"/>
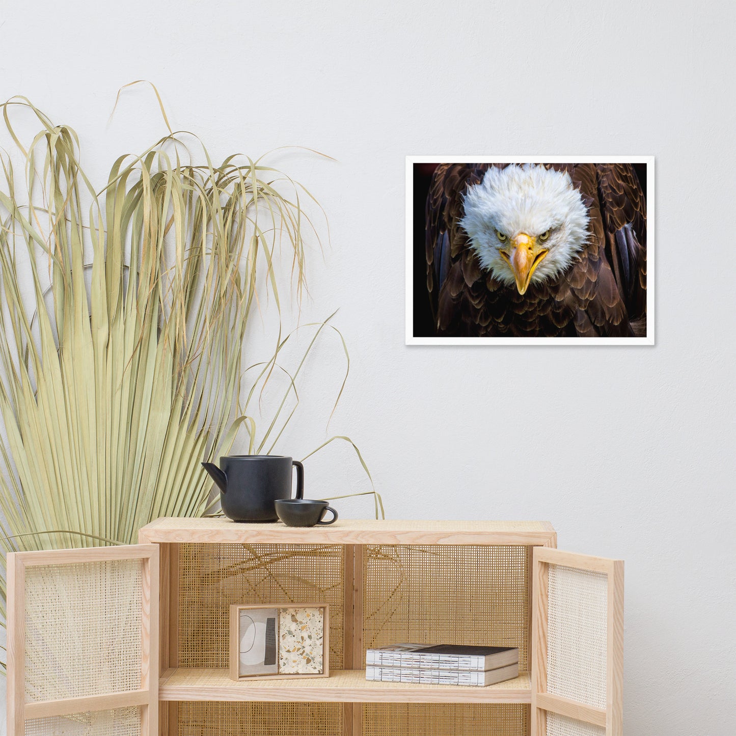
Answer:
<path fill-rule="evenodd" d="M 653 157 L 408 157 L 407 344 L 654 344 L 653 205 Z"/>

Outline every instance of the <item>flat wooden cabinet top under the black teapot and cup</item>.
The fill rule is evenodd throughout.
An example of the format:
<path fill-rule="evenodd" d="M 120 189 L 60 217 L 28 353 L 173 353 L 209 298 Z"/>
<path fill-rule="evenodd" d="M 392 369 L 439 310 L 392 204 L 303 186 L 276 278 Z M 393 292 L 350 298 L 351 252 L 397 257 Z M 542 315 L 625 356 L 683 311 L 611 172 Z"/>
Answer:
<path fill-rule="evenodd" d="M 339 545 L 547 545 L 556 546 L 548 521 L 402 521 L 340 519 L 329 526 L 244 524 L 224 517 L 165 517 L 141 528 L 140 542 Z"/>

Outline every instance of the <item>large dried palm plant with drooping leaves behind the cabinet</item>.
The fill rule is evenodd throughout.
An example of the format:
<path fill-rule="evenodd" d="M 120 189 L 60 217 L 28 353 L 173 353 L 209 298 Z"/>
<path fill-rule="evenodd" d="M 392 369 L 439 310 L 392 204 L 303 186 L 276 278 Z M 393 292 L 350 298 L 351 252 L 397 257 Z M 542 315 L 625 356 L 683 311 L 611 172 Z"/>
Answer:
<path fill-rule="evenodd" d="M 28 147 L 18 106 L 40 123 Z M 292 372 L 279 333 L 240 405 L 249 321 L 266 294 L 280 310 L 277 263 L 291 262 L 297 298 L 305 288 L 303 233 L 316 230 L 302 199 L 313 198 L 262 158 L 215 165 L 199 142 L 191 154 L 163 105 L 169 134 L 118 158 L 97 191 L 74 130 L 25 98 L 1 109 L 16 149 L 0 185 L 4 551 L 130 543 L 156 517 L 216 511 L 199 462 L 227 453 L 238 428 L 252 452 L 272 450 L 314 340 L 333 329 L 311 326 Z M 282 371 L 289 385 L 259 438 L 248 406 Z M 324 444 L 335 439 L 350 442 Z M 4 574 L 0 586 L 4 620 Z"/>

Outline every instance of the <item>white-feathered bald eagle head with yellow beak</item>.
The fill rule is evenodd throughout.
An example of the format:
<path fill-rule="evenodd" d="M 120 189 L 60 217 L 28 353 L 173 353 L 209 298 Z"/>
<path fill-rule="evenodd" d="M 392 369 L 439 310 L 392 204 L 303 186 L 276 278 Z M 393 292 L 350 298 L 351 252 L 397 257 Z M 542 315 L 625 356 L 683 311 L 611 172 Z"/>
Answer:
<path fill-rule="evenodd" d="M 468 188 L 464 210 L 460 224 L 481 268 L 519 294 L 565 272 L 588 237 L 587 208 L 570 175 L 540 164 L 489 169 Z"/>

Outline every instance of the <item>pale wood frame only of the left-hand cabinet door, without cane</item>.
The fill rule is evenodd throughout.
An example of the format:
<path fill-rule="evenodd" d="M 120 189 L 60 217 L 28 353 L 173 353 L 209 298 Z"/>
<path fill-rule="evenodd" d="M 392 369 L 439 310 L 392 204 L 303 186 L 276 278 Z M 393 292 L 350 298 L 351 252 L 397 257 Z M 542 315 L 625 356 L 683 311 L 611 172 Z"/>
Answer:
<path fill-rule="evenodd" d="M 141 687 L 61 700 L 26 701 L 26 570 L 34 566 L 76 565 L 113 560 L 141 561 Z M 140 707 L 141 736 L 158 734 L 159 634 L 158 545 L 126 545 L 54 551 L 15 552 L 7 556 L 7 733 L 24 736 L 26 721 L 72 713 Z M 83 602 L 82 602 L 83 605 Z"/>

